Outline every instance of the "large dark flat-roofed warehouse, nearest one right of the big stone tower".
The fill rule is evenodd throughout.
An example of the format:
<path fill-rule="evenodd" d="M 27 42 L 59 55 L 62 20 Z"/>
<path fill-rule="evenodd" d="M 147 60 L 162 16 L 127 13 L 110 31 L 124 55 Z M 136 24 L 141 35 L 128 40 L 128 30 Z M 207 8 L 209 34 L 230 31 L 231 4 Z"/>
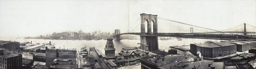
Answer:
<path fill-rule="evenodd" d="M 215 58 L 226 55 L 236 54 L 236 45 L 228 42 L 210 42 L 190 44 L 190 52 L 193 55 L 198 55 L 200 52 L 203 57 Z"/>

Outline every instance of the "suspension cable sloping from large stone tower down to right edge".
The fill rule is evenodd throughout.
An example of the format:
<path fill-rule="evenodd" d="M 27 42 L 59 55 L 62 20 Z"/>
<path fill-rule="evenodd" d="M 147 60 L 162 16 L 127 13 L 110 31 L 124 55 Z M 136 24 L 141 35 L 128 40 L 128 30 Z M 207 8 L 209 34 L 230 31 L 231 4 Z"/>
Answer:
<path fill-rule="evenodd" d="M 146 16 L 148 16 L 148 15 L 146 15 Z M 187 24 L 187 23 L 178 22 L 178 21 L 175 21 L 175 20 L 161 18 L 160 16 L 151 16 L 151 17 L 157 17 L 157 18 L 162 19 L 162 20 L 167 20 L 167 21 L 176 22 L 176 23 L 180 23 L 180 24 L 186 24 L 186 25 L 189 25 L 189 26 L 195 26 L 195 25 L 191 25 L 191 24 Z M 195 26 L 195 27 L 199 27 L 199 26 Z M 204 27 L 199 27 L 199 28 L 204 28 Z M 204 29 L 213 30 L 213 29 L 210 29 L 210 28 L 204 28 Z M 219 31 L 219 30 L 214 30 L 214 31 Z M 224 31 L 219 31 L 219 32 L 234 34 L 234 33 L 224 32 Z M 234 34 L 234 35 L 239 35 L 239 34 Z M 240 36 L 251 37 L 251 36 L 246 36 L 246 35 L 240 35 Z M 256 38 L 256 37 L 253 37 L 253 38 Z"/>

